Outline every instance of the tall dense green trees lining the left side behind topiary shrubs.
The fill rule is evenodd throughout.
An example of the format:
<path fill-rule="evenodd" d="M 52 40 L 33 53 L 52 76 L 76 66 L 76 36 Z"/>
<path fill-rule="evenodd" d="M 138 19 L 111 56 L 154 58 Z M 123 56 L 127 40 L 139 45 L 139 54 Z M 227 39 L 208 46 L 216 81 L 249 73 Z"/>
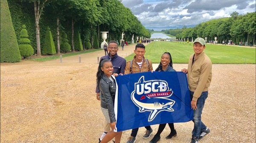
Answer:
<path fill-rule="evenodd" d="M 106 41 L 119 41 L 122 32 L 125 33 L 125 41 L 131 41 L 133 35 L 151 36 L 131 10 L 123 6 L 119 0 L 7 0 L 7 2 L 17 39 L 20 39 L 22 25 L 26 25 L 30 44 L 37 56 L 41 56 L 41 47 L 44 47 L 41 43 L 45 39 L 45 31 L 48 27 L 52 31 L 58 54 L 61 52 L 61 42 L 67 41 L 72 51 L 87 49 L 87 42 L 90 42 L 89 48 L 99 48 L 103 41 L 101 31 L 108 31 Z"/>

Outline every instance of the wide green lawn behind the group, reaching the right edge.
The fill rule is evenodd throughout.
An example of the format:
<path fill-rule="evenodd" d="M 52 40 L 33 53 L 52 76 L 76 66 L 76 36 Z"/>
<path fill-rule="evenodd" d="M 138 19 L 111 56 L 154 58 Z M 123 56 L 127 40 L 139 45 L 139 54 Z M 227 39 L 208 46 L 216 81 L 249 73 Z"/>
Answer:
<path fill-rule="evenodd" d="M 148 44 L 145 50 L 145 57 L 153 63 L 159 63 L 164 52 L 171 53 L 173 63 L 188 63 L 189 56 L 194 53 L 192 42 L 154 41 Z M 256 48 L 207 44 L 204 51 L 212 60 L 213 64 L 256 63 Z M 134 53 L 125 59 L 129 61 L 133 56 Z"/>

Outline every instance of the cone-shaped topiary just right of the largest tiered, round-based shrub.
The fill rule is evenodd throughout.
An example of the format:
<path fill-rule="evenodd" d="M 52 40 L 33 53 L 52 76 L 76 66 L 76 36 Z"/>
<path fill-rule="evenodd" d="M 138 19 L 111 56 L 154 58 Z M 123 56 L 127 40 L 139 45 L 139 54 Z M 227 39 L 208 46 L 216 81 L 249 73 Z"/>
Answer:
<path fill-rule="evenodd" d="M 44 45 L 42 47 L 42 54 L 44 55 L 52 55 L 56 53 L 55 45 L 52 39 L 52 32 L 50 31 L 50 28 L 47 28 L 45 38 L 44 38 Z"/>

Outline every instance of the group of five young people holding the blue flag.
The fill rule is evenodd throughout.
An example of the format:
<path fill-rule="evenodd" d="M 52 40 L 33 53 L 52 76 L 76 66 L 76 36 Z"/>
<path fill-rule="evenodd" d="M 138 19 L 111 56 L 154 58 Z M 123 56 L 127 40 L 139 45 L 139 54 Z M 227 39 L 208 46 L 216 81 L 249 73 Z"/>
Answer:
<path fill-rule="evenodd" d="M 212 62 L 204 53 L 204 39 L 195 39 L 193 49 L 195 53 L 189 58 L 188 68 L 183 68 L 181 71 L 187 73 L 191 107 L 194 110 L 194 129 L 192 131 L 191 143 L 198 143 L 198 139 L 201 139 L 210 132 L 207 126 L 201 121 L 201 114 L 212 79 Z M 108 43 L 109 53 L 108 55 L 101 57 L 96 73 L 96 98 L 101 101 L 102 113 L 105 116 L 104 132 L 102 133 L 102 137 L 99 138 L 99 143 L 108 143 L 113 138 L 115 138 L 115 143 L 119 143 L 122 136 L 122 132 L 114 132 L 116 126 L 114 113 L 116 93 L 115 76 L 148 71 L 153 72 L 152 62 L 144 57 L 146 51 L 143 44 L 139 43 L 135 46 L 135 56 L 133 60 L 129 62 L 126 62 L 124 58 L 118 56 L 117 51 L 118 44 L 116 41 L 110 41 Z M 175 72 L 172 66 L 172 56 L 169 52 L 163 53 L 160 59 L 160 64 L 155 71 Z M 168 125 L 171 132 L 166 136 L 166 139 L 177 136 L 174 123 L 168 123 Z M 166 123 L 159 125 L 157 133 L 149 143 L 157 143 L 157 141 L 160 140 L 160 134 L 163 132 L 165 126 Z M 145 135 L 143 135 L 143 138 L 147 139 L 150 137 L 153 130 L 151 129 L 151 126 L 145 126 L 145 128 L 146 132 Z M 127 143 L 135 142 L 138 129 L 139 128 L 132 129 L 131 136 L 128 138 Z"/>

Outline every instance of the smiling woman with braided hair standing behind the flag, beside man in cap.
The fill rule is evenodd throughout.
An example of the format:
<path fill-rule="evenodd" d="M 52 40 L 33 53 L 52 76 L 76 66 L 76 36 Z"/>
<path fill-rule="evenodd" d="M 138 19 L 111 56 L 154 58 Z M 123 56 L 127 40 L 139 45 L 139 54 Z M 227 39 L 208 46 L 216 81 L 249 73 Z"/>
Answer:
<path fill-rule="evenodd" d="M 176 70 L 173 69 L 172 67 L 172 56 L 169 52 L 164 52 L 163 55 L 161 56 L 161 61 L 160 64 L 158 65 L 157 69 L 155 71 L 164 71 L 164 72 L 174 72 Z M 177 136 L 177 132 L 174 129 L 174 124 L 173 123 L 168 123 L 171 133 L 166 136 L 166 139 L 170 139 L 172 137 Z M 157 141 L 160 140 L 160 134 L 163 132 L 163 129 L 165 128 L 166 123 L 159 124 L 158 130 L 156 135 L 150 140 L 149 143 L 157 143 Z"/>

